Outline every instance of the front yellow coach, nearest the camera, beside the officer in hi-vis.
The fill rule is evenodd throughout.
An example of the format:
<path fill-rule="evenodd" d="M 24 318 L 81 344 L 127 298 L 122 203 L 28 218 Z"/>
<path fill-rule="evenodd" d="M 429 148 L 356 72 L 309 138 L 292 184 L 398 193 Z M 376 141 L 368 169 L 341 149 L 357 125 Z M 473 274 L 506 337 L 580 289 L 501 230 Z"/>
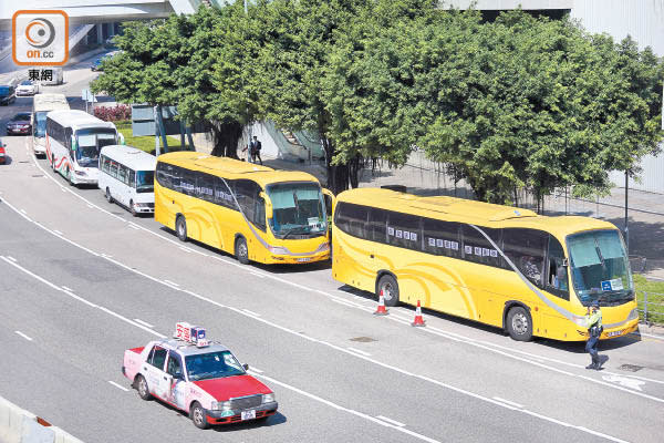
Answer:
<path fill-rule="evenodd" d="M 599 301 L 602 339 L 636 329 L 622 235 L 590 217 L 380 188 L 336 196 L 332 274 L 398 302 L 532 336 L 578 341 Z"/>

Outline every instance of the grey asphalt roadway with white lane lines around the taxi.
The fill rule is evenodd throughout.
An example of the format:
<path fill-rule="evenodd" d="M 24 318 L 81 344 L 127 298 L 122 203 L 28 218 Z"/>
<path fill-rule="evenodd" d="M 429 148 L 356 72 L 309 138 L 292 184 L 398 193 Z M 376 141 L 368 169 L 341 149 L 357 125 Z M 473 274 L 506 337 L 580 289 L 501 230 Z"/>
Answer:
<path fill-rule="evenodd" d="M 65 73 L 68 95 L 91 76 Z M 31 99 L 0 109 L 0 125 Z M 501 331 L 409 308 L 375 317 L 373 295 L 329 264 L 242 266 L 100 189 L 75 188 L 3 137 L 0 165 L 0 395 L 90 442 L 661 441 L 664 340 L 515 342 Z M 144 402 L 120 372 L 125 349 L 205 326 L 278 396 L 263 424 L 200 431 Z M 146 326 L 147 324 L 147 326 Z M 627 369 L 636 369 L 631 372 Z"/>

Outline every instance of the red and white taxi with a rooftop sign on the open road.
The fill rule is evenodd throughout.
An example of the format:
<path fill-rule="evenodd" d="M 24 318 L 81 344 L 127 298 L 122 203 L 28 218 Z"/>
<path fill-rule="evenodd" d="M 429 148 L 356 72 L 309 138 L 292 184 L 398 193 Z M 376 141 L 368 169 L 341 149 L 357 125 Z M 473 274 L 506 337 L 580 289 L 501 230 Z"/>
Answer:
<path fill-rule="evenodd" d="M 178 322 L 175 339 L 126 350 L 122 372 L 143 400 L 155 396 L 206 429 L 277 412 L 274 392 L 247 369 L 226 347 L 208 342 L 205 329 Z"/>

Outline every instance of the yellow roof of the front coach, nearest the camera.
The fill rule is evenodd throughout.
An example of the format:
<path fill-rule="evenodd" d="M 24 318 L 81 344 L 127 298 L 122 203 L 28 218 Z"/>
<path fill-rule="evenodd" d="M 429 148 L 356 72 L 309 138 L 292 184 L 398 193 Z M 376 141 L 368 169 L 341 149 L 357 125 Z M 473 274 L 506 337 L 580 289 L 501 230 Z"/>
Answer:
<path fill-rule="evenodd" d="M 383 188 L 357 188 L 336 196 L 338 202 L 426 216 L 449 222 L 477 224 L 489 228 L 540 229 L 560 238 L 582 230 L 615 229 L 615 225 L 592 217 L 542 216 L 530 209 L 456 197 L 419 197 Z"/>

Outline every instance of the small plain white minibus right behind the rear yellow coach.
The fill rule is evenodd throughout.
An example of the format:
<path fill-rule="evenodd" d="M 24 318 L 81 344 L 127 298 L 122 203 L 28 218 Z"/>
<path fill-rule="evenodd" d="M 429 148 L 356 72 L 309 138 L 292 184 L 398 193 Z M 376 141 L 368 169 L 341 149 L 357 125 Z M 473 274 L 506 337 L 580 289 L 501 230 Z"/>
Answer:
<path fill-rule="evenodd" d="M 98 187 L 108 203 L 129 209 L 136 217 L 155 212 L 155 166 L 157 157 L 125 145 L 108 145 L 100 153 Z"/>

